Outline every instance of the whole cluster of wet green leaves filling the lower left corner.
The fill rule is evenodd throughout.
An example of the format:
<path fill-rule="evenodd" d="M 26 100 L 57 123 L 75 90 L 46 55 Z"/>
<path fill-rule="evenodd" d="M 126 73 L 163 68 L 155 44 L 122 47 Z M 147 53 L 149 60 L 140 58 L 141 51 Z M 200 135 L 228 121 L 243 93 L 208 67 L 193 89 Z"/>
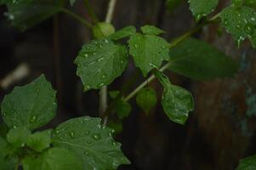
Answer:
<path fill-rule="evenodd" d="M 55 94 L 41 76 L 4 97 L 1 112 L 9 130 L 0 136 L 0 169 L 104 170 L 129 163 L 100 118 L 78 117 L 35 131 L 54 118 Z"/>

